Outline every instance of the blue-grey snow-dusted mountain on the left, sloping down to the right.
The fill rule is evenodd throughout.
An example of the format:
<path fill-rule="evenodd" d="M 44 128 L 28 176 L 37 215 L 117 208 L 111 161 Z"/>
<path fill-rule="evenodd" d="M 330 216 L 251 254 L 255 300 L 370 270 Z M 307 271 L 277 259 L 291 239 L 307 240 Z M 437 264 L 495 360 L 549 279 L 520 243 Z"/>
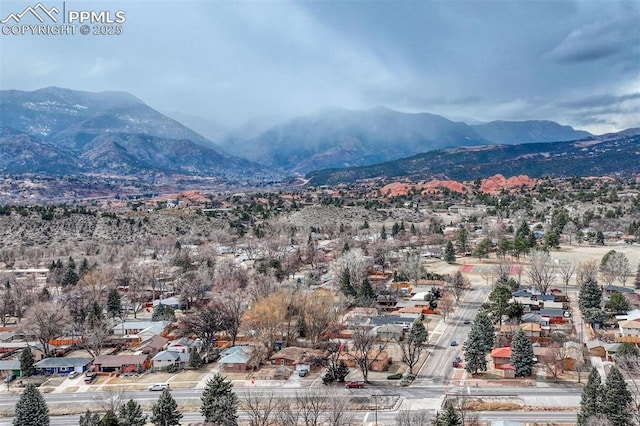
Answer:
<path fill-rule="evenodd" d="M 0 171 L 273 176 L 124 92 L 0 92 Z"/>

